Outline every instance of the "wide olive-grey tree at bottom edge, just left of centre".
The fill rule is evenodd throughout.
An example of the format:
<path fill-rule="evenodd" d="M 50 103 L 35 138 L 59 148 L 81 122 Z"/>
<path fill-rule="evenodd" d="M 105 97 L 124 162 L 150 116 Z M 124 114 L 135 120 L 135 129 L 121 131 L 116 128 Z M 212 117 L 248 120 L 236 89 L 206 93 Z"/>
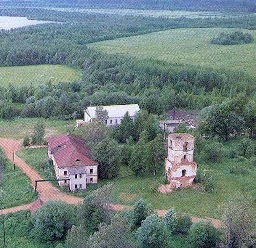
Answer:
<path fill-rule="evenodd" d="M 87 245 L 89 248 L 129 248 L 134 247 L 134 241 L 129 225 L 117 217 L 109 226 L 101 225 L 99 231 L 90 236 Z"/>

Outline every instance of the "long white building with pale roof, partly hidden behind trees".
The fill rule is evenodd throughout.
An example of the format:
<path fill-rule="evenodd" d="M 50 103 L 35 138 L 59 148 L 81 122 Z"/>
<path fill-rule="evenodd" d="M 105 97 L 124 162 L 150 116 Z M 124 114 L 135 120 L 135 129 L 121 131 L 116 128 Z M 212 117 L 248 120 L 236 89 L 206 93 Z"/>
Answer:
<path fill-rule="evenodd" d="M 103 110 L 108 112 L 108 118 L 105 120 L 106 126 L 114 126 L 121 123 L 126 112 L 134 120 L 137 112 L 140 111 L 138 104 L 125 104 L 125 105 L 112 105 L 112 106 L 103 106 Z M 96 117 L 96 106 L 87 107 L 84 110 L 84 122 L 92 122 Z"/>

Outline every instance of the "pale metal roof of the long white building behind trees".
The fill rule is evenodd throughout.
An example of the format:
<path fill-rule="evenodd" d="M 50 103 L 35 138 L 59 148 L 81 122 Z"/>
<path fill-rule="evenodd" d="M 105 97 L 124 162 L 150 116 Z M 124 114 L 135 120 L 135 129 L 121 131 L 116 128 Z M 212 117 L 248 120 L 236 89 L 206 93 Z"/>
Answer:
<path fill-rule="evenodd" d="M 129 112 L 131 117 L 134 117 L 138 111 L 140 111 L 138 104 L 126 104 L 126 105 L 112 105 L 112 106 L 103 106 L 103 109 L 108 111 L 109 118 L 123 117 L 126 112 Z M 85 110 L 87 114 L 93 119 L 96 116 L 96 106 L 87 107 Z"/>

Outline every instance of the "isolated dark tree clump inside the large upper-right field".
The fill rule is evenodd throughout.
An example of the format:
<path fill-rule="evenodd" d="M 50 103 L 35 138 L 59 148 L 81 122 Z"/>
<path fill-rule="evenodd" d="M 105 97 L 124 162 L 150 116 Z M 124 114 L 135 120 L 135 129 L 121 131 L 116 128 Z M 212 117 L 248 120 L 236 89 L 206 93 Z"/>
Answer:
<path fill-rule="evenodd" d="M 243 44 L 243 43 L 251 43 L 253 42 L 253 37 L 249 33 L 243 33 L 240 31 L 226 34 L 221 33 L 218 37 L 213 38 L 210 41 L 212 44 L 220 44 L 220 45 L 235 45 L 235 44 Z"/>

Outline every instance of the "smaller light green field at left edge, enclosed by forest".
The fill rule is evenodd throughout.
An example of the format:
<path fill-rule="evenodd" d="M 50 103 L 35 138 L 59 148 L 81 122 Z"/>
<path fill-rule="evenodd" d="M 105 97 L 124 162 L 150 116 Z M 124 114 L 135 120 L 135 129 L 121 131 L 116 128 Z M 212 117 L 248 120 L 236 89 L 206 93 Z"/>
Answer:
<path fill-rule="evenodd" d="M 26 65 L 0 67 L 0 86 L 39 85 L 81 80 L 81 71 L 67 65 Z"/>

